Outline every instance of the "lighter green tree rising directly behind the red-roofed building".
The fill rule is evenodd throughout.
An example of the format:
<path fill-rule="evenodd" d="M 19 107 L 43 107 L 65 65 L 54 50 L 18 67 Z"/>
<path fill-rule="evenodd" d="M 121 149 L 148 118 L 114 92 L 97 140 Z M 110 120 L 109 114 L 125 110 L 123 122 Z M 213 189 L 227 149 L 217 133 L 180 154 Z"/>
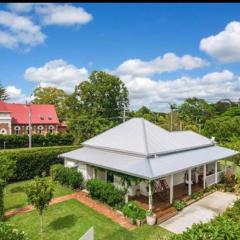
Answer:
<path fill-rule="evenodd" d="M 33 103 L 54 104 L 60 120 L 66 118 L 66 99 L 68 95 L 62 90 L 54 87 L 37 87 L 34 90 Z"/>

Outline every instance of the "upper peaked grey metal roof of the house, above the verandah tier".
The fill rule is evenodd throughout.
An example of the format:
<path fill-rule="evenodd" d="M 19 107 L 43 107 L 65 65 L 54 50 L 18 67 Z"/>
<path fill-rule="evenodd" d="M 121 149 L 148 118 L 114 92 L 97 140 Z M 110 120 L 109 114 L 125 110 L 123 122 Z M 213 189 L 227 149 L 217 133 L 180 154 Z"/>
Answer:
<path fill-rule="evenodd" d="M 192 131 L 168 132 L 143 118 L 132 118 L 85 141 L 83 145 L 149 156 L 214 144 Z"/>

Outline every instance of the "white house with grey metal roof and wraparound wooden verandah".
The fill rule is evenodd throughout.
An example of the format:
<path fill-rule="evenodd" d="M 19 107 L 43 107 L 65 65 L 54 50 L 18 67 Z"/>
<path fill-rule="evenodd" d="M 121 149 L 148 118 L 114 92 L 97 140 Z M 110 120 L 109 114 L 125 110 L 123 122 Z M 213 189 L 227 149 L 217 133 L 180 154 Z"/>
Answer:
<path fill-rule="evenodd" d="M 65 166 L 77 167 L 85 179 L 122 187 L 112 171 L 141 178 L 129 187 L 128 197 L 149 209 L 171 205 L 181 194 L 218 183 L 227 170 L 226 160 L 223 170 L 219 161 L 235 155 L 213 139 L 192 131 L 169 132 L 143 118 L 132 118 L 85 141 L 82 148 L 61 154 Z M 153 182 L 158 192 L 153 192 Z"/>

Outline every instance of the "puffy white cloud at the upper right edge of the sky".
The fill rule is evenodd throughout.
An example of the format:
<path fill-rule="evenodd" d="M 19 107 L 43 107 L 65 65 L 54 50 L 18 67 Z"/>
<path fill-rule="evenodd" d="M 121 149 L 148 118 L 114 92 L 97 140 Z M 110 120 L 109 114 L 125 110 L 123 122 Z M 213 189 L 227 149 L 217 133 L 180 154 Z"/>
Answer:
<path fill-rule="evenodd" d="M 222 32 L 203 38 L 200 49 L 221 62 L 239 62 L 240 22 L 230 22 Z"/>

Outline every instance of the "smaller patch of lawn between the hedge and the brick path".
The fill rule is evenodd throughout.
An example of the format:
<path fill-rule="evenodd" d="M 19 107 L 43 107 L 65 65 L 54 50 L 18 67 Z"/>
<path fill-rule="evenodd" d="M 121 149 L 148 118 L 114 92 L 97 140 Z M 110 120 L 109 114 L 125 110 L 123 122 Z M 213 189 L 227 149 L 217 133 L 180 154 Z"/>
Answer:
<path fill-rule="evenodd" d="M 21 181 L 12 184 L 8 184 L 5 188 L 4 194 L 4 205 L 5 211 L 9 211 L 15 208 L 20 208 L 28 205 L 27 196 L 24 192 L 24 186 L 29 182 Z M 55 192 L 54 197 L 60 197 L 73 192 L 68 187 L 61 186 L 58 183 L 55 183 Z"/>

